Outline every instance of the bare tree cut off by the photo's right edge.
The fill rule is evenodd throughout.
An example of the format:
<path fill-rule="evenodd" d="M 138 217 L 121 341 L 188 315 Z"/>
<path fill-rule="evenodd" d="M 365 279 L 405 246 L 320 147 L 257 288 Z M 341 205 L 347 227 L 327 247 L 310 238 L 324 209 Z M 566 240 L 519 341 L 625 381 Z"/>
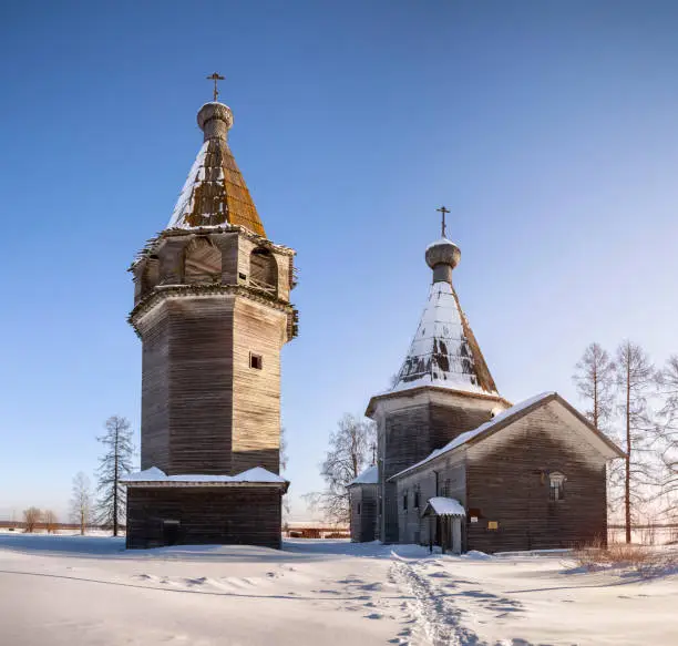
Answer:
<path fill-rule="evenodd" d="M 664 465 L 661 484 L 664 493 L 672 501 L 678 496 L 678 355 L 669 357 L 657 373 L 657 383 L 664 400 L 658 424 Z"/>

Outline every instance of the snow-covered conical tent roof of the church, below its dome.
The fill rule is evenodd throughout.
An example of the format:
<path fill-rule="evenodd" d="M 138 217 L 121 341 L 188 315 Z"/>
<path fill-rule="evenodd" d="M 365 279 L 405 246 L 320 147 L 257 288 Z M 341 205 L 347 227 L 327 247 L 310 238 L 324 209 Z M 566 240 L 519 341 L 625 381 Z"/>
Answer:
<path fill-rule="evenodd" d="M 452 285 L 433 283 L 410 350 L 390 392 L 438 386 L 496 396 L 496 387 Z"/>

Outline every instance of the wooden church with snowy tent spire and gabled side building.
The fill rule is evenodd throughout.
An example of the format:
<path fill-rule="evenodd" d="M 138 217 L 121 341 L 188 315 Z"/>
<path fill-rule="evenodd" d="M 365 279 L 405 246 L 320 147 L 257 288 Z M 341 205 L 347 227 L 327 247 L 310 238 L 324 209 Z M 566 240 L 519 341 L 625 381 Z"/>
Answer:
<path fill-rule="evenodd" d="M 408 356 L 367 409 L 378 459 L 349 485 L 352 540 L 456 553 L 606 541 L 606 466 L 624 453 L 555 392 L 500 396 L 452 285 L 460 258 L 443 219 Z"/>

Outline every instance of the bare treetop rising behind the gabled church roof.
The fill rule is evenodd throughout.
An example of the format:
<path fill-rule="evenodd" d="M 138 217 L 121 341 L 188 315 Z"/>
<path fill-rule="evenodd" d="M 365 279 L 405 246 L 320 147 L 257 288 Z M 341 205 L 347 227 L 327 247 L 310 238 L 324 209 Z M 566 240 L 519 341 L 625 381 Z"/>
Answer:
<path fill-rule="evenodd" d="M 599 343 L 589 343 L 576 365 L 573 380 L 589 409 L 586 417 L 598 430 L 607 428 L 615 401 L 615 363 Z"/>

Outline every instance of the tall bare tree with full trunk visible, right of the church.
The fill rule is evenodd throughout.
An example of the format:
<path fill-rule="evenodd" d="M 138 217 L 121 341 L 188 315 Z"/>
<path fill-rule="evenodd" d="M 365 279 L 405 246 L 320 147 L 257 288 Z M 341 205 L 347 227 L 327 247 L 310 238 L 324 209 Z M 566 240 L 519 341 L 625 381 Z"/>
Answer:
<path fill-rule="evenodd" d="M 624 516 L 626 542 L 631 542 L 631 512 L 647 496 L 655 482 L 651 466 L 653 425 L 648 416 L 648 390 L 655 368 L 645 350 L 624 341 L 617 348 L 616 381 L 619 388 L 619 413 L 624 427 L 626 459 L 624 468 Z"/>

